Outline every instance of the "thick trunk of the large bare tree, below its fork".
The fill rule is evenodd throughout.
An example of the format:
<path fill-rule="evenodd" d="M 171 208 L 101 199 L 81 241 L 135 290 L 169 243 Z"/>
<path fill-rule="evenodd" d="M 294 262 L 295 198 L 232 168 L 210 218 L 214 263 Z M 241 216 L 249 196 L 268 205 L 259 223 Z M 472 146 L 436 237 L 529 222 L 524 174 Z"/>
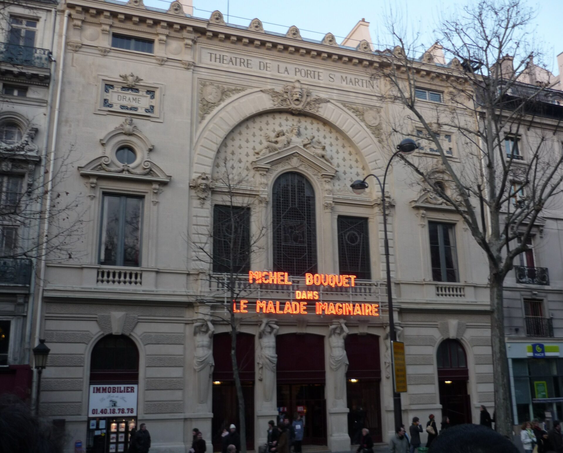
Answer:
<path fill-rule="evenodd" d="M 504 278 L 491 268 L 491 339 L 493 346 L 494 412 L 495 429 L 512 440 L 511 396 L 508 379 L 508 359 L 504 341 L 503 281 Z M 492 414 L 491 414 L 492 415 Z"/>

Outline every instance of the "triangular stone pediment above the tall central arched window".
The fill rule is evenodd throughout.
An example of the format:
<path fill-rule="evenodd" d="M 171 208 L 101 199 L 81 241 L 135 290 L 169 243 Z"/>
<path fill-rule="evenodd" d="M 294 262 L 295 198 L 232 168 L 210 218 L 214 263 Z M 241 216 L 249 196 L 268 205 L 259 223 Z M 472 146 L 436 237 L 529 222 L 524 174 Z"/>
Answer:
<path fill-rule="evenodd" d="M 321 153 L 319 153 L 321 154 Z M 291 145 L 283 150 L 261 156 L 253 162 L 253 167 L 257 171 L 267 172 L 270 168 L 288 162 L 293 167 L 308 165 L 321 176 L 333 178 L 337 169 L 327 160 L 313 151 L 305 149 L 301 145 Z"/>

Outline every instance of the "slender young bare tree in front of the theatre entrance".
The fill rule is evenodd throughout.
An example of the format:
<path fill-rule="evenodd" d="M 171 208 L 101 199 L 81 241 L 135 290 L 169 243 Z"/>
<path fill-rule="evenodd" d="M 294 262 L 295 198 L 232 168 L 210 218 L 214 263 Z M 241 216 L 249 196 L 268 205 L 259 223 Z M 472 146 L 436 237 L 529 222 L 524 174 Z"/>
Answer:
<path fill-rule="evenodd" d="M 261 241 L 265 237 L 266 228 L 260 221 L 252 219 L 252 209 L 259 200 L 249 190 L 251 185 L 247 182 L 247 176 L 239 176 L 233 171 L 227 158 L 220 162 L 220 167 L 221 171 L 217 172 L 210 184 L 217 195 L 212 210 L 213 226 L 208 230 L 196 231 L 199 240 L 190 240 L 190 243 L 198 257 L 196 260 L 209 270 L 209 297 L 201 297 L 198 302 L 208 307 L 210 316 L 225 322 L 230 328 L 230 356 L 238 400 L 240 448 L 245 453 L 245 403 L 240 364 L 236 357 L 237 333 L 242 318 L 235 315 L 233 303 L 236 302 L 240 307 L 240 300 L 248 299 L 252 294 L 248 271 L 252 257 L 256 258 L 257 253 L 262 251 Z M 245 316 L 247 317 L 244 319 L 248 319 L 251 315 Z M 247 353 L 253 355 L 254 351 L 249 350 Z"/>

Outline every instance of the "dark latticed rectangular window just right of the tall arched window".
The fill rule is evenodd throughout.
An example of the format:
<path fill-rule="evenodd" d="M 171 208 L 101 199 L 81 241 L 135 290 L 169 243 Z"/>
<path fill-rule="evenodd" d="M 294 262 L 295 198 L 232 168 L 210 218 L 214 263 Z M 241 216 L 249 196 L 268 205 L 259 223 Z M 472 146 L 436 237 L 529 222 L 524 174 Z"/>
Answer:
<path fill-rule="evenodd" d="M 372 279 L 367 218 L 338 216 L 338 262 L 341 275 Z"/>

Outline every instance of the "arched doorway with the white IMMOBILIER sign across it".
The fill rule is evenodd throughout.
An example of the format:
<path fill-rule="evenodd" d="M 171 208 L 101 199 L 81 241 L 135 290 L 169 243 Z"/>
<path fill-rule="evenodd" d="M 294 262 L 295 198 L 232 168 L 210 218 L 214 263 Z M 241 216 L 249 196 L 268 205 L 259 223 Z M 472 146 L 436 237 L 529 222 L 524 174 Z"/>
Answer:
<path fill-rule="evenodd" d="M 125 335 L 106 335 L 90 356 L 87 453 L 127 452 L 137 428 L 139 353 Z"/>

